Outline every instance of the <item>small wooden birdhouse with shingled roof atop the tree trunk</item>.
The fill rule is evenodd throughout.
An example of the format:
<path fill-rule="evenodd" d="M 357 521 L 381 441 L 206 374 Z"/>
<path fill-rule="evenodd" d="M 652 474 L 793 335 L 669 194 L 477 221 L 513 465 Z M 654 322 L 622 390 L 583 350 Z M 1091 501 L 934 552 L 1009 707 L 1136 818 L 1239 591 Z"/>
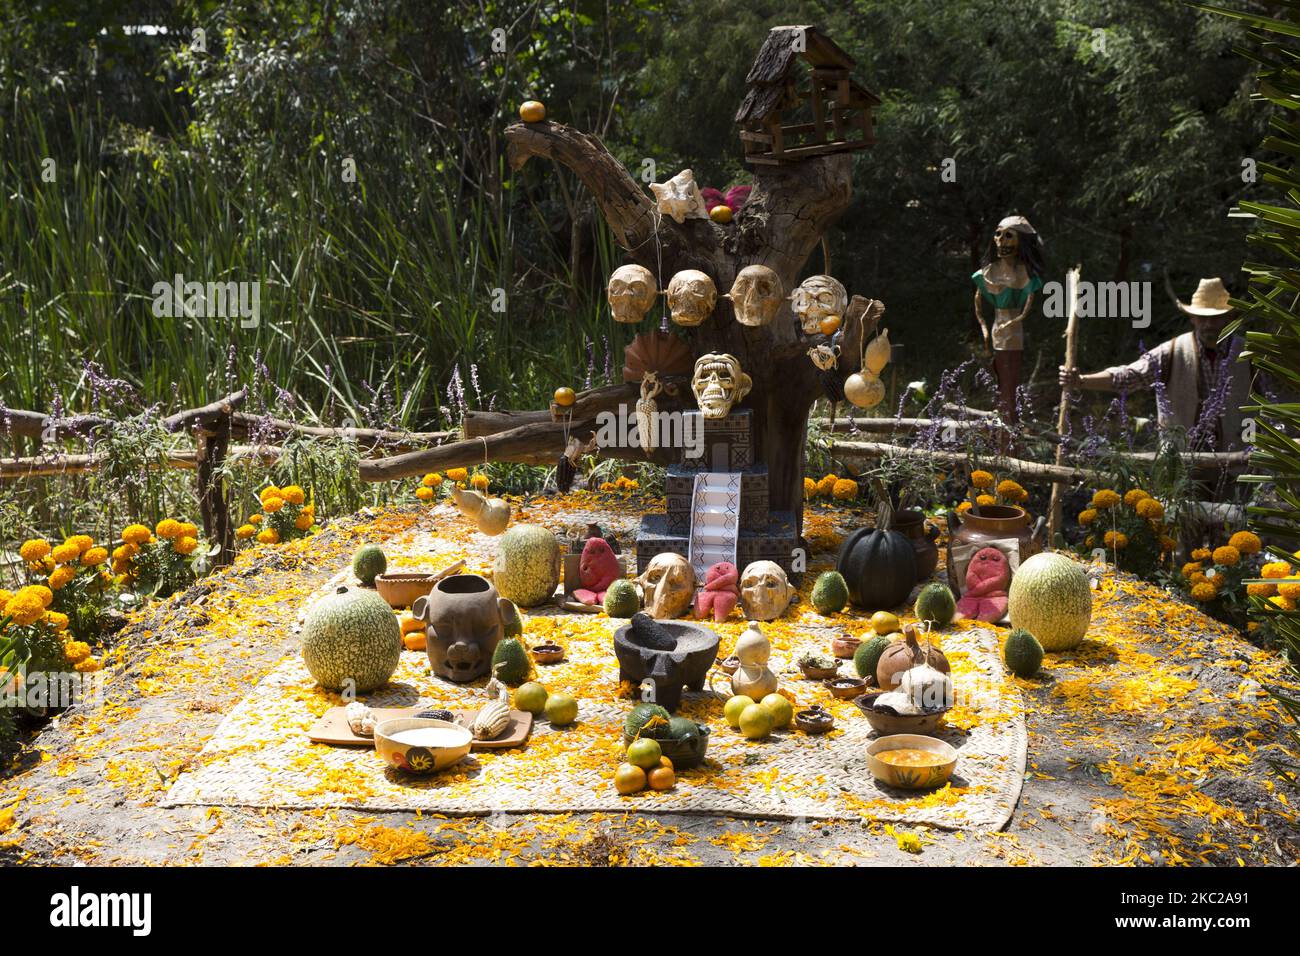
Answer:
<path fill-rule="evenodd" d="M 745 161 L 797 163 L 871 146 L 880 98 L 854 82 L 853 65 L 815 26 L 772 27 L 736 111 Z"/>

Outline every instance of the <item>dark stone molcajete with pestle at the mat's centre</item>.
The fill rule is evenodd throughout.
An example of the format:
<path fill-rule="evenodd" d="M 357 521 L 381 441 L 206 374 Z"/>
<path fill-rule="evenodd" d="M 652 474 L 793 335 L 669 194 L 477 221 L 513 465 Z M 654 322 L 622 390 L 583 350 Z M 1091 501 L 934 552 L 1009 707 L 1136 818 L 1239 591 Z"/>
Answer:
<path fill-rule="evenodd" d="M 676 710 L 681 688 L 702 691 L 718 657 L 718 635 L 685 620 L 655 620 L 638 611 L 614 632 L 619 680 L 654 682 L 654 702 Z"/>

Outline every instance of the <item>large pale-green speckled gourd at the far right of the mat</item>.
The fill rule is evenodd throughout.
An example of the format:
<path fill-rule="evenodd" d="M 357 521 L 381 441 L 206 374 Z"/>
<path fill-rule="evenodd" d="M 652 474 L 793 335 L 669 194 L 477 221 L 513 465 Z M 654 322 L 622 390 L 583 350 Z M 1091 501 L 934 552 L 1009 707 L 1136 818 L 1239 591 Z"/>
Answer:
<path fill-rule="evenodd" d="M 1035 554 L 1011 576 L 1006 610 L 1011 627 L 1032 633 L 1044 650 L 1076 648 L 1092 620 L 1088 575 L 1063 554 Z"/>

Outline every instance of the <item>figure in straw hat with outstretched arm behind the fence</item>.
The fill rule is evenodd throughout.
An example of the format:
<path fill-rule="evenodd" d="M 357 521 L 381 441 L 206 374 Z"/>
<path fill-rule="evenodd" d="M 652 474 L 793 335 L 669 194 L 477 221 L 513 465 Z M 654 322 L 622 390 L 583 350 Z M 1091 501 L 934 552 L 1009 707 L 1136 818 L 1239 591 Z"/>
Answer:
<path fill-rule="evenodd" d="M 1178 308 L 1192 330 L 1175 336 L 1127 365 L 1080 375 L 1061 367 L 1061 385 L 1096 392 L 1156 392 L 1162 431 L 1182 428 L 1202 450 L 1242 447 L 1242 412 L 1251 395 L 1251 367 L 1238 362 L 1242 338 L 1219 342 L 1232 317 L 1222 278 L 1202 278 L 1191 302 Z M 1216 420 L 1210 420 L 1214 416 Z"/>

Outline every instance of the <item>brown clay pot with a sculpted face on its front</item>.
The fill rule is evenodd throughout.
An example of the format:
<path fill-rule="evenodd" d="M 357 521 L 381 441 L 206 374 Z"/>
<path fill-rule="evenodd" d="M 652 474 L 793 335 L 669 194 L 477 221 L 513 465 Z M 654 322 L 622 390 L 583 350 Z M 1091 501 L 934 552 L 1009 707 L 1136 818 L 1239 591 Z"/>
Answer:
<path fill-rule="evenodd" d="M 488 674 L 514 615 L 510 601 L 478 575 L 445 578 L 411 606 L 411 617 L 425 623 L 433 672 L 460 684 Z"/>

